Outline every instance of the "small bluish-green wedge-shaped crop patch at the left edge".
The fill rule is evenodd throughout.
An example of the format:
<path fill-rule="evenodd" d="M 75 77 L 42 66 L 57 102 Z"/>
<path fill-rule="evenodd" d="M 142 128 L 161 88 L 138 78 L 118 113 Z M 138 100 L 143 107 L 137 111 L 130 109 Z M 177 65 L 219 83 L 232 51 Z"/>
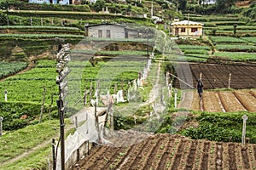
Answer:
<path fill-rule="evenodd" d="M 18 63 L 7 63 L 4 61 L 0 61 L 0 78 L 8 77 L 9 75 L 13 75 L 18 71 L 26 68 L 26 62 L 18 62 Z"/>

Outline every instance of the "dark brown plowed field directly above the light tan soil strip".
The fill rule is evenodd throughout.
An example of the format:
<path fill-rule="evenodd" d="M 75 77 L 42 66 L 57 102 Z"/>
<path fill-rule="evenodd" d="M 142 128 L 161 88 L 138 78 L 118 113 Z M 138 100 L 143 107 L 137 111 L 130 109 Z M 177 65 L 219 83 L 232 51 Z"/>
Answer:
<path fill-rule="evenodd" d="M 189 69 L 190 68 L 190 69 Z M 256 88 L 256 65 L 217 65 L 217 64 L 178 64 L 175 67 L 177 77 L 196 88 L 196 82 L 202 73 L 205 89 L 228 88 L 231 74 L 230 88 Z M 174 74 L 174 73 L 173 73 Z M 175 88 L 189 88 L 183 82 L 175 79 Z"/>

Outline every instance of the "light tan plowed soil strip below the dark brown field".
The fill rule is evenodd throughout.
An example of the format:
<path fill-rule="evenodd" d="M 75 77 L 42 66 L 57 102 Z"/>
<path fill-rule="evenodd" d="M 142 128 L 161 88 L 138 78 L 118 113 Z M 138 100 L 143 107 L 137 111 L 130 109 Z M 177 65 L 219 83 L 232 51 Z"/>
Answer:
<path fill-rule="evenodd" d="M 235 90 L 225 92 L 205 91 L 202 99 L 203 111 L 229 112 L 229 111 L 256 111 L 255 90 Z M 200 111 L 198 94 L 194 92 L 191 108 Z"/>

